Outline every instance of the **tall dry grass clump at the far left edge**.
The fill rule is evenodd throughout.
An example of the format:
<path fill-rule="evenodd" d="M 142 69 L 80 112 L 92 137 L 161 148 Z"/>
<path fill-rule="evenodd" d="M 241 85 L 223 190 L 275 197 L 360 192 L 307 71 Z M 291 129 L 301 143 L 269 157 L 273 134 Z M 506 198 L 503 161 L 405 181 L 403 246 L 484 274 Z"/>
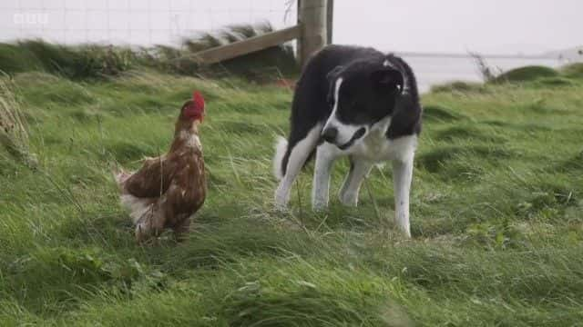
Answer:
<path fill-rule="evenodd" d="M 35 165 L 36 157 L 30 152 L 28 133 L 20 104 L 9 84 L 0 78 L 0 144 L 15 159 Z"/>

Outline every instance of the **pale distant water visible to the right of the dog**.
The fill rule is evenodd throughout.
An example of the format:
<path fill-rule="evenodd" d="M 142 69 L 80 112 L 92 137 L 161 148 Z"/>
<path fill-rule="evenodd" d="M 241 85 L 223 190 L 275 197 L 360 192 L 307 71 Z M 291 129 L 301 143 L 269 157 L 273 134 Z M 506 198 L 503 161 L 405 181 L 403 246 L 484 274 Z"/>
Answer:
<path fill-rule="evenodd" d="M 477 68 L 476 60 L 469 56 L 438 56 L 421 54 L 403 54 L 405 61 L 414 69 L 419 91 L 429 91 L 432 85 L 445 84 L 452 81 L 482 82 L 482 76 Z M 519 58 L 519 57 L 485 57 L 486 64 L 494 72 L 498 69 L 509 69 L 526 65 L 545 65 L 557 67 L 567 64 L 564 61 L 552 58 Z"/>

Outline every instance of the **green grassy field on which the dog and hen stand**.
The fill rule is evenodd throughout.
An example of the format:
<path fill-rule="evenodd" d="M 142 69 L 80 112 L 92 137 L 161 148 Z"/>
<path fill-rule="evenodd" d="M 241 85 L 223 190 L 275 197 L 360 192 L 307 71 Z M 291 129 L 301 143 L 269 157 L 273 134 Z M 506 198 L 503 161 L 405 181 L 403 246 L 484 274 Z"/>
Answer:
<path fill-rule="evenodd" d="M 583 84 L 560 78 L 424 96 L 409 241 L 394 233 L 388 168 L 358 208 L 334 197 L 312 213 L 309 166 L 292 212 L 272 210 L 287 89 L 145 70 L 15 74 L 10 105 L 36 161 L 0 149 L 0 322 L 581 325 Z M 208 200 L 187 242 L 138 246 L 110 171 L 165 151 L 193 89 L 208 101 Z"/>

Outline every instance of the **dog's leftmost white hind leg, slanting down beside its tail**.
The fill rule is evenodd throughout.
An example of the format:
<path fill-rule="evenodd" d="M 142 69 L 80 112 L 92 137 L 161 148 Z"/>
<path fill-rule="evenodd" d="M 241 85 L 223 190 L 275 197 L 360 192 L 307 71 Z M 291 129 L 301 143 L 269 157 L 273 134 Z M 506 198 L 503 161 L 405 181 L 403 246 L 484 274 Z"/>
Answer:
<path fill-rule="evenodd" d="M 288 149 L 290 155 L 288 157 L 285 174 L 281 178 L 280 185 L 275 191 L 275 205 L 278 209 L 285 209 L 290 201 L 290 191 L 292 189 L 293 181 L 302 170 L 303 164 L 306 162 L 313 149 L 318 144 L 320 133 L 322 132 L 322 124 L 316 124 L 312 130 L 300 142 L 292 144 L 292 148 Z"/>

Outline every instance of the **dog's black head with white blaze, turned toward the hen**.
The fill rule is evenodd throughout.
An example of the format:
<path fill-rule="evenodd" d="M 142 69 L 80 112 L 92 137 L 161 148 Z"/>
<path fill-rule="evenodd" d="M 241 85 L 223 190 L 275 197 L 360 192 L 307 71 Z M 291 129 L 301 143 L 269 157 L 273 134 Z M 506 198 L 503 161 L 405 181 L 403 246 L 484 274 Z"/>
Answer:
<path fill-rule="evenodd" d="M 374 124 L 391 116 L 403 92 L 404 75 L 387 60 L 354 61 L 328 75 L 332 114 L 322 139 L 345 150 L 363 139 Z"/>

